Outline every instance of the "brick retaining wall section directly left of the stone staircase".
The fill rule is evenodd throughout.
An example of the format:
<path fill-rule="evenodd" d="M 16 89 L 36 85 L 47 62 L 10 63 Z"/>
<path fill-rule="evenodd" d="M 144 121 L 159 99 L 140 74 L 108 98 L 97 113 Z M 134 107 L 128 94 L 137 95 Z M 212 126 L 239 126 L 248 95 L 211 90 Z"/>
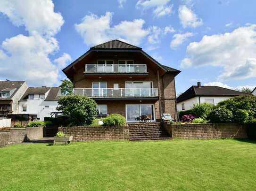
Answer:
<path fill-rule="evenodd" d="M 91 140 L 128 140 L 129 127 L 125 126 L 96 126 L 96 127 L 59 127 L 59 131 L 73 136 L 73 141 Z"/>

